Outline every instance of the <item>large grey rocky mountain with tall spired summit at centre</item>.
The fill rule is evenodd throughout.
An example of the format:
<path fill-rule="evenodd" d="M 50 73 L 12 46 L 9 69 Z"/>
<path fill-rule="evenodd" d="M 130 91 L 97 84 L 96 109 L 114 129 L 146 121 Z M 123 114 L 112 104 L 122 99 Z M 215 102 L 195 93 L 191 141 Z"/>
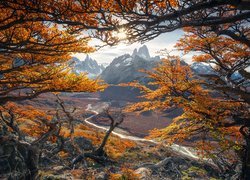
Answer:
<path fill-rule="evenodd" d="M 160 57 L 150 57 L 146 45 L 133 54 L 124 54 L 115 58 L 109 66 L 102 72 L 101 78 L 109 84 L 119 84 L 134 80 L 146 81 L 145 74 L 139 72 L 140 69 L 152 69 Z"/>

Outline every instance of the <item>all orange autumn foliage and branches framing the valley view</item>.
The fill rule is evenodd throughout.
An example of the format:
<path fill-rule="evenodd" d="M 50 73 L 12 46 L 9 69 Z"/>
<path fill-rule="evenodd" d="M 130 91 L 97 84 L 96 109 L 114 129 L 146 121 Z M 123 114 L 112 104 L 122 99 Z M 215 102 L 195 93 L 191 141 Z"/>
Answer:
<path fill-rule="evenodd" d="M 115 45 L 120 39 L 114 32 L 120 29 L 126 32 L 126 41 L 144 42 L 182 28 L 185 35 L 176 47 L 184 53 L 198 53 L 193 60 L 211 65 L 213 73 L 194 74 L 179 57 L 168 56 L 153 71 L 146 72 L 153 80 L 149 86 L 129 84 L 141 89 L 145 98 L 129 110 L 183 109 L 172 125 L 152 131 L 151 137 L 174 142 L 199 136 L 202 138 L 197 147 L 209 155 L 219 150 L 217 146 L 223 152 L 240 149 L 242 177 L 247 178 L 249 7 L 248 0 L 0 1 L 1 124 L 21 137 L 14 115 L 37 119 L 37 135 L 48 139 L 51 132 L 58 130 L 58 124 L 35 109 L 33 115 L 23 114 L 11 102 L 45 92 L 104 89 L 102 81 L 73 74 L 70 69 L 73 53 L 95 50 L 88 45 L 91 37 Z M 40 120 L 46 123 L 41 125 Z"/>

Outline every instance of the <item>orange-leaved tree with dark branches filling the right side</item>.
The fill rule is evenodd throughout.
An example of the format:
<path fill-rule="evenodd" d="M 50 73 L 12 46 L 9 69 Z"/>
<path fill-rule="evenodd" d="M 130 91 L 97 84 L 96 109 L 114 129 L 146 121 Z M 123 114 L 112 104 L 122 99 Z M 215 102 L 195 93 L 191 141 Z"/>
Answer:
<path fill-rule="evenodd" d="M 204 5 L 215 1 L 196 3 Z M 141 89 L 144 100 L 131 105 L 128 110 L 165 110 L 175 107 L 183 109 L 183 114 L 170 126 L 162 130 L 153 130 L 151 137 L 175 142 L 198 136 L 195 138 L 198 143 L 196 147 L 212 156 L 217 150 L 217 155 L 220 156 L 221 152 L 231 151 L 233 147 L 236 147 L 235 152 L 238 154 L 240 148 L 243 153 L 239 158 L 243 163 L 243 177 L 246 178 L 249 175 L 250 162 L 249 15 L 242 19 L 234 19 L 248 13 L 247 8 L 242 10 L 233 4 L 217 5 L 208 6 L 207 9 L 203 6 L 200 11 L 189 12 L 186 19 L 185 15 L 182 16 L 184 19 L 179 19 L 179 24 L 170 20 L 169 24 L 168 21 L 163 24 L 156 23 L 155 31 L 150 25 L 145 28 L 148 34 L 143 33 L 145 36 L 142 35 L 140 39 L 156 37 L 174 30 L 175 27 L 183 27 L 185 34 L 177 42 L 176 48 L 184 54 L 194 53 L 193 62 L 209 65 L 211 72 L 194 73 L 188 65 L 183 64 L 180 57 L 167 56 L 152 72 L 146 71 L 152 79 L 151 83 L 146 86 L 138 82 L 129 84 Z M 176 5 L 173 12 L 179 8 L 180 5 Z M 220 17 L 216 18 L 216 15 Z M 188 17 L 193 18 L 193 21 L 188 21 Z M 195 17 L 201 17 L 198 24 Z M 226 20 L 229 17 L 230 20 Z M 194 24 L 188 25 L 185 20 Z M 211 20 L 211 24 L 207 20 Z M 152 34 L 155 36 L 151 36 Z M 215 145 L 215 142 L 218 144 Z M 218 147 L 221 147 L 221 150 Z M 218 156 L 216 158 L 218 160 Z"/>

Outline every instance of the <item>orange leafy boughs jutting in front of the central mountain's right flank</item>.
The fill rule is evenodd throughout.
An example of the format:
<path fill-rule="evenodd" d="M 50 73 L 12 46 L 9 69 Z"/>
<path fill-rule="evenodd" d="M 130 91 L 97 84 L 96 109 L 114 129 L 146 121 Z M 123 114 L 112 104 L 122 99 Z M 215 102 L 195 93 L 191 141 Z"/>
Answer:
<path fill-rule="evenodd" d="M 143 93 L 142 98 L 145 99 L 127 107 L 127 111 L 165 110 L 172 107 L 173 103 L 182 106 L 186 99 L 181 95 L 200 92 L 197 89 L 197 80 L 192 79 L 190 68 L 177 56 L 169 56 L 168 59 L 163 59 L 153 71 L 144 72 L 152 79 L 149 86 L 138 82 L 123 84 L 123 86 L 139 88 Z"/>

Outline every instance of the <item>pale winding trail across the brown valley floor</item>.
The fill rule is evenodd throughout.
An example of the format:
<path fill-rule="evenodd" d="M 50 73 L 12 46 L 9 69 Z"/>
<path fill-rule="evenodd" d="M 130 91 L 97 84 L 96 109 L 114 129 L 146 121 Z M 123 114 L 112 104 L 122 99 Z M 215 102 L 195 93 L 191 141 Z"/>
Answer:
<path fill-rule="evenodd" d="M 91 120 L 94 116 L 98 115 L 100 112 L 103 111 L 103 109 L 107 108 L 108 106 L 109 105 L 107 103 L 103 103 L 103 105 L 101 105 L 101 107 L 97 106 L 97 109 L 95 109 L 95 108 L 92 107 L 91 104 L 88 104 L 86 110 L 93 112 L 94 115 L 86 118 L 84 121 L 87 124 L 89 124 L 89 125 L 91 125 L 93 127 L 96 127 L 98 129 L 102 129 L 102 130 L 107 131 L 108 127 L 97 125 L 95 123 L 90 122 L 89 120 Z M 132 141 L 142 141 L 142 142 L 151 142 L 151 143 L 154 143 L 154 144 L 159 144 L 159 142 L 154 141 L 154 140 L 144 139 L 144 138 L 140 138 L 140 137 L 136 137 L 136 136 L 124 135 L 124 134 L 121 134 L 121 133 L 118 133 L 118 132 L 115 132 L 115 131 L 113 131 L 112 133 L 114 135 L 119 136 L 122 139 L 129 139 L 129 140 L 132 140 Z M 199 159 L 199 156 L 197 155 L 195 150 L 190 148 L 190 147 L 185 147 L 185 146 L 181 146 L 181 145 L 178 145 L 178 144 L 172 144 L 169 147 L 171 149 L 173 149 L 174 151 L 177 151 L 178 153 L 182 154 L 182 155 L 185 155 L 187 157 L 191 157 L 191 158 L 194 158 L 194 159 Z"/>

